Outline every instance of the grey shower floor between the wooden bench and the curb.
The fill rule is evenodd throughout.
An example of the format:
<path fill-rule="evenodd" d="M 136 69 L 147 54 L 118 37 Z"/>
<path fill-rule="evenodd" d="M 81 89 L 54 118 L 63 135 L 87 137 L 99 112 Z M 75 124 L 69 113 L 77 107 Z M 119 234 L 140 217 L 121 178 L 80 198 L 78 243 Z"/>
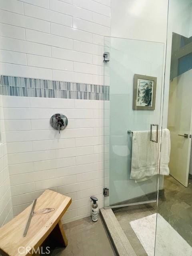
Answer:
<path fill-rule="evenodd" d="M 64 224 L 68 238 L 66 248 L 54 248 L 51 256 L 115 256 L 102 220 L 92 222 L 91 218 L 83 218 Z"/>

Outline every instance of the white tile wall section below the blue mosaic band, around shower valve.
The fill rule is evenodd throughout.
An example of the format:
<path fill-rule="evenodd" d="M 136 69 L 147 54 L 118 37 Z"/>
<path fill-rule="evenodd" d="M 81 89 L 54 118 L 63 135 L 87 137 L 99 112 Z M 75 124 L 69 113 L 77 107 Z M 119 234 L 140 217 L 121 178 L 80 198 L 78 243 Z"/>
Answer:
<path fill-rule="evenodd" d="M 3 96 L 2 101 L 13 214 L 47 188 L 72 193 L 73 202 L 63 222 L 89 216 L 91 195 L 103 206 L 103 153 L 105 147 L 108 161 L 109 143 L 103 132 L 108 132 L 108 127 L 103 128 L 104 102 L 14 96 Z M 60 134 L 49 124 L 56 112 L 68 118 L 68 126 Z"/>

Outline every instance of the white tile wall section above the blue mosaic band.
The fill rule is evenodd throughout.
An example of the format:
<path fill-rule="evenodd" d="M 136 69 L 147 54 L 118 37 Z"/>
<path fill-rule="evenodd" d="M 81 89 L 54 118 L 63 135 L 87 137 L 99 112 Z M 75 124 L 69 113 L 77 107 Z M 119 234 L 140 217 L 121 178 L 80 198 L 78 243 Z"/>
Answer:
<path fill-rule="evenodd" d="M 0 36 L 3 75 L 102 85 L 110 0 L 1 0 Z"/>

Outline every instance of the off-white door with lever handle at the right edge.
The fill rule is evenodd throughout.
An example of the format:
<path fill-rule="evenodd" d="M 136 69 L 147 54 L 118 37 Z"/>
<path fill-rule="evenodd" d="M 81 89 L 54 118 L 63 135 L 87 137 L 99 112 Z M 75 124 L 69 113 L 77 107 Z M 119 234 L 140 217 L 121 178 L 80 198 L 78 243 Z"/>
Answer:
<path fill-rule="evenodd" d="M 191 152 L 192 70 L 170 81 L 168 129 L 171 136 L 170 174 L 188 186 Z"/>

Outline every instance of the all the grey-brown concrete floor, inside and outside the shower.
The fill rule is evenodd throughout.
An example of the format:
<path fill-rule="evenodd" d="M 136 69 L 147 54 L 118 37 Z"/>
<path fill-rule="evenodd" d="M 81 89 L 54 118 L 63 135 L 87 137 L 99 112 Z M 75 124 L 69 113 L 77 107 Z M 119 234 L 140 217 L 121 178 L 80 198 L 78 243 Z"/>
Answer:
<path fill-rule="evenodd" d="M 192 246 L 192 180 L 185 188 L 168 176 L 164 180 L 164 189 L 164 196 L 159 199 L 158 213 Z M 129 223 L 156 213 L 156 203 L 115 208 L 113 211 L 136 255 L 147 256 Z M 51 256 L 116 255 L 100 218 L 95 223 L 88 217 L 64 224 L 64 230 L 68 246 L 54 248 Z"/>

